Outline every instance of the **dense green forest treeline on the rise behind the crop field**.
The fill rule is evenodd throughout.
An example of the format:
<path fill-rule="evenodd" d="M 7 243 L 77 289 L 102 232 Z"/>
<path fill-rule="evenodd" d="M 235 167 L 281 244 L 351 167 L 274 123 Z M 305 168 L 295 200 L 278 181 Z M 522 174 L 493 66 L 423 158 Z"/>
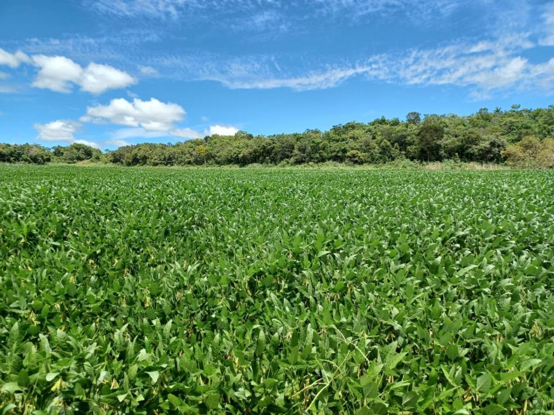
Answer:
<path fill-rule="evenodd" d="M 469 116 L 410 112 L 406 120 L 377 118 L 348 122 L 329 131 L 253 136 L 208 136 L 175 144 L 143 143 L 102 153 L 84 144 L 56 146 L 0 144 L 0 162 L 121 165 L 295 165 L 340 162 L 381 164 L 399 159 L 420 162 L 504 163 L 516 167 L 554 167 L 554 106 L 530 110 L 481 108 Z"/>

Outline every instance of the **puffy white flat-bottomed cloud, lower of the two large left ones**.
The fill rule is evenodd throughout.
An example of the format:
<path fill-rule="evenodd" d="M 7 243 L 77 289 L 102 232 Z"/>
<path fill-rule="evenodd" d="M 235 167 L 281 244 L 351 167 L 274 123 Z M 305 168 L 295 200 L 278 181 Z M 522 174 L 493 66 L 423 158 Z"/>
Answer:
<path fill-rule="evenodd" d="M 111 100 L 108 105 L 88 107 L 83 122 L 110 122 L 129 127 L 142 127 L 146 131 L 170 131 L 175 122 L 183 120 L 186 112 L 183 107 L 172 102 L 161 102 L 156 98 L 142 101 L 134 98 L 132 102 L 125 98 Z"/>

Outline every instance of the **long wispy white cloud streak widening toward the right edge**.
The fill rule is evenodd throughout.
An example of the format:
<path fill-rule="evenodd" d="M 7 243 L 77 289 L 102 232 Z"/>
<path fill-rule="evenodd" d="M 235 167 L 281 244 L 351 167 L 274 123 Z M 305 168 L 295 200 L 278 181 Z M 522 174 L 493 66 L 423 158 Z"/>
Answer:
<path fill-rule="evenodd" d="M 554 10 L 554 9 L 553 9 Z M 231 89 L 288 87 L 296 91 L 325 89 L 355 76 L 370 81 L 403 85 L 454 85 L 470 87 L 470 95 L 484 97 L 492 91 L 514 89 L 554 90 L 550 62 L 531 63 L 525 50 L 535 45 L 526 38 L 502 37 L 476 43 L 453 43 L 434 49 L 372 56 L 365 63 L 343 64 L 301 76 L 273 76 L 268 66 L 235 61 L 201 72 L 201 79 L 219 81 Z M 283 71 L 280 71 L 283 72 Z M 260 75 L 257 75 L 260 74 Z"/>

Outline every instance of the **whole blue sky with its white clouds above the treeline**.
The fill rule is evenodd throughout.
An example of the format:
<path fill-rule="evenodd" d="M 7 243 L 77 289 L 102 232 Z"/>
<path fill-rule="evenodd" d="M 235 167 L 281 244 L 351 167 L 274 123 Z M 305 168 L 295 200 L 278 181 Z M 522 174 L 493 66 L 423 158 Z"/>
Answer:
<path fill-rule="evenodd" d="M 0 142 L 290 133 L 553 92 L 554 2 L 0 1 Z"/>

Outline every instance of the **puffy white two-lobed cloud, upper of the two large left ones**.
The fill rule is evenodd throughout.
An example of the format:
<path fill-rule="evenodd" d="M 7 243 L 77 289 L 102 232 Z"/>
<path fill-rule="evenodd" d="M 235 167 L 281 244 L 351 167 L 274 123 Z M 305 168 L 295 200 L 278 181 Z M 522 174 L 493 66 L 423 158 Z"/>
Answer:
<path fill-rule="evenodd" d="M 91 62 L 81 67 L 65 56 L 33 55 L 33 64 L 38 66 L 33 86 L 57 92 L 71 92 L 73 84 L 92 94 L 101 94 L 109 89 L 125 88 L 135 84 L 136 79 L 127 72 L 109 65 Z"/>

